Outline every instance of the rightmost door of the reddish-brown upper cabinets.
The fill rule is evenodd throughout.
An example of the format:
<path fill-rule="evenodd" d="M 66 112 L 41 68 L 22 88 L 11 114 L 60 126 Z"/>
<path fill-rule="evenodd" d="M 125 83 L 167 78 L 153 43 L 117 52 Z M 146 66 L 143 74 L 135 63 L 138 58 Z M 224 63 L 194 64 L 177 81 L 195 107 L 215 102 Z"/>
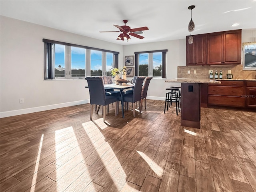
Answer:
<path fill-rule="evenodd" d="M 224 32 L 223 64 L 241 64 L 241 30 Z"/>

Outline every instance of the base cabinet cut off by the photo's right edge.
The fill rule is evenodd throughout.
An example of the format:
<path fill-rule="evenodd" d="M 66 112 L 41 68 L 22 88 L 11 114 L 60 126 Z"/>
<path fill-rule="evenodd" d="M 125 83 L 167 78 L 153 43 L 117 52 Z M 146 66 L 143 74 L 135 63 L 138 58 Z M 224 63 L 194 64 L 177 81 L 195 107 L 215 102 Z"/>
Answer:
<path fill-rule="evenodd" d="M 256 108 L 256 81 L 246 82 L 246 106 Z"/>

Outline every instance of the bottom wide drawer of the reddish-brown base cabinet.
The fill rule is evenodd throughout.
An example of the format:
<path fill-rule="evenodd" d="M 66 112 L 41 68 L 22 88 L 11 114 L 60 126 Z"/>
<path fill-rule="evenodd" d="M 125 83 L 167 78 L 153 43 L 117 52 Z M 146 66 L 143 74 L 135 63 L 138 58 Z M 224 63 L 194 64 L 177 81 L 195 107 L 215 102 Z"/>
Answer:
<path fill-rule="evenodd" d="M 245 98 L 232 96 L 208 95 L 208 104 L 245 107 Z"/>

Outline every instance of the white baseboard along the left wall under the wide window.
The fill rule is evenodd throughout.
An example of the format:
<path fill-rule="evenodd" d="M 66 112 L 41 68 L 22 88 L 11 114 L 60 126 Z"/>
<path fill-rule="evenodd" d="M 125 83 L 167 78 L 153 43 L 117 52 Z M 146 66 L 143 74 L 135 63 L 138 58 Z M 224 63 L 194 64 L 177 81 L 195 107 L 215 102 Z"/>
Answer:
<path fill-rule="evenodd" d="M 90 99 L 68 102 L 68 103 L 60 103 L 60 104 L 54 104 L 54 105 L 48 105 L 48 106 L 40 106 L 40 107 L 34 107 L 34 108 L 0 112 L 0 118 L 16 116 L 16 115 L 23 115 L 23 114 L 28 114 L 28 113 L 40 112 L 40 111 L 46 111 L 46 110 L 52 110 L 52 109 L 58 109 L 58 108 L 62 108 L 62 107 L 70 107 L 70 106 L 75 106 L 75 105 L 86 104 L 89 102 L 90 102 Z"/>

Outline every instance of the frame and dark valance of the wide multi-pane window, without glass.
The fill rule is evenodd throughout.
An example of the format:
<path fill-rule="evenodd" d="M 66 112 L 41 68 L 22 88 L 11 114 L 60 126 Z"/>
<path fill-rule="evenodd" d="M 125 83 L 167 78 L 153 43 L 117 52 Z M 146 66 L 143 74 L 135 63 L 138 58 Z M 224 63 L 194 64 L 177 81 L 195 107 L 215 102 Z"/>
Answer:
<path fill-rule="evenodd" d="M 91 50 L 97 50 L 102 52 L 102 75 L 107 74 L 106 67 L 107 64 L 106 55 L 108 53 L 113 54 L 113 67 L 118 68 L 118 55 L 119 52 L 105 50 L 100 48 L 94 48 L 89 46 L 83 46 L 78 44 L 71 44 L 66 42 L 60 42 L 55 40 L 43 39 L 44 42 L 44 80 L 53 80 L 53 79 L 82 79 L 81 77 L 72 77 L 71 72 L 71 47 L 78 47 L 85 49 L 85 76 L 91 75 Z M 55 77 L 55 44 L 61 44 L 65 46 L 65 77 Z"/>

